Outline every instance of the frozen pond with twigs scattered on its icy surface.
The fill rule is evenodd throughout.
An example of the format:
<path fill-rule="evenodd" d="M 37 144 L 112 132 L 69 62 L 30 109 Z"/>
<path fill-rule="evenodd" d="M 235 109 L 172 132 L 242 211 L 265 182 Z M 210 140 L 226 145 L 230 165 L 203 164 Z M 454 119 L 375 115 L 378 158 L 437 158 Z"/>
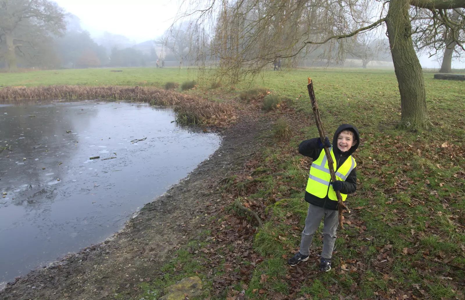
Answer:
<path fill-rule="evenodd" d="M 173 120 L 144 104 L 0 105 L 0 283 L 105 240 L 219 147 Z"/>

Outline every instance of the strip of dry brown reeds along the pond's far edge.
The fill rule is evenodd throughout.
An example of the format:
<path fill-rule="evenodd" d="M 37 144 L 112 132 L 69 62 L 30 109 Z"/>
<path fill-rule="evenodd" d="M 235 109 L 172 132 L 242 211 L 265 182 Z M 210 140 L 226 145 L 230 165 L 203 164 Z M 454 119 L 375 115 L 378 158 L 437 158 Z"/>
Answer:
<path fill-rule="evenodd" d="M 235 118 L 234 109 L 228 104 L 153 87 L 59 85 L 0 89 L 0 101 L 24 99 L 110 99 L 173 106 L 178 113 L 176 120 L 182 124 L 225 125 Z"/>

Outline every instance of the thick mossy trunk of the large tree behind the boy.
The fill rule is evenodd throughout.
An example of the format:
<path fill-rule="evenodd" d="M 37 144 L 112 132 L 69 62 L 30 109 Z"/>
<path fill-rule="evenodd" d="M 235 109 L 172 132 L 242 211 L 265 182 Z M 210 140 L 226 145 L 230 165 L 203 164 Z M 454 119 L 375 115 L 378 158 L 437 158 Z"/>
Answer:
<path fill-rule="evenodd" d="M 386 16 L 392 61 L 399 83 L 401 128 L 425 129 L 430 125 L 426 109 L 425 80 L 412 43 L 409 0 L 391 0 Z"/>

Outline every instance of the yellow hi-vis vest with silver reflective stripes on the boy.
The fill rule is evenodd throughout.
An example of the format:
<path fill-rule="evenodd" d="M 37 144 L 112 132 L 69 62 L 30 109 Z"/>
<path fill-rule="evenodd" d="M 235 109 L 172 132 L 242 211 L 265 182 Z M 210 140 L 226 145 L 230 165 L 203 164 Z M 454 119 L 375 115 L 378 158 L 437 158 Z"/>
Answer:
<path fill-rule="evenodd" d="M 332 152 L 332 147 L 329 150 L 331 153 L 332 161 L 334 162 L 334 171 L 336 171 L 336 158 Z M 352 172 L 353 168 L 356 166 L 357 163 L 353 159 L 352 155 L 349 156 L 336 172 L 336 180 L 345 181 L 347 176 L 349 176 L 350 172 Z M 318 159 L 313 161 L 305 190 L 319 198 L 325 198 L 327 194 L 328 198 L 331 200 L 338 201 L 336 192 L 332 189 L 331 175 L 329 173 L 328 159 L 326 158 L 325 150 L 321 150 Z M 347 194 L 341 193 L 341 196 L 342 200 L 345 201 Z"/>

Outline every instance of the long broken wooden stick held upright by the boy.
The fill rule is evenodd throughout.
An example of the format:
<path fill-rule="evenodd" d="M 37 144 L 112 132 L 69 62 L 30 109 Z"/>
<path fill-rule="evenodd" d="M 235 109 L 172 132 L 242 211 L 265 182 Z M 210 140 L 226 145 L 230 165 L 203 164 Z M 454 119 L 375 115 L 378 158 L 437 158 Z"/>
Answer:
<path fill-rule="evenodd" d="M 334 162 L 332 161 L 329 148 L 325 146 L 326 134 L 325 134 L 325 131 L 323 130 L 323 125 L 321 125 L 321 120 L 319 118 L 318 104 L 315 98 L 315 91 L 313 90 L 312 78 L 310 77 L 308 77 L 307 89 L 308 89 L 308 96 L 310 96 L 310 101 L 312 102 L 313 115 L 315 116 L 315 123 L 317 124 L 321 143 L 323 144 L 323 149 L 325 150 L 326 157 L 328 158 L 328 168 L 329 168 L 329 173 L 331 175 L 331 181 L 336 181 L 336 174 L 334 172 Z M 341 196 L 340 191 L 336 191 L 336 197 L 338 198 L 339 226 L 343 228 L 342 221 L 344 220 L 344 217 L 342 216 L 342 211 L 346 210 L 347 212 L 350 213 L 350 210 L 345 206 L 344 202 L 342 201 L 342 196 Z"/>

